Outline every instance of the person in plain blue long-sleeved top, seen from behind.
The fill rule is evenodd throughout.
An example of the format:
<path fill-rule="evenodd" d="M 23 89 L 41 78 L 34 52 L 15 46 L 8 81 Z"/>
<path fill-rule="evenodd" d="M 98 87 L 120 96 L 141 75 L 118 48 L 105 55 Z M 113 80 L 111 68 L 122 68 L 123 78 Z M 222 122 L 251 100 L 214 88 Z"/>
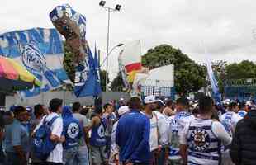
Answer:
<path fill-rule="evenodd" d="M 120 162 L 126 165 L 147 165 L 151 158 L 150 121 L 140 113 L 140 98 L 130 98 L 128 105 L 130 112 L 121 116 L 116 127 L 116 144 L 120 147 Z"/>

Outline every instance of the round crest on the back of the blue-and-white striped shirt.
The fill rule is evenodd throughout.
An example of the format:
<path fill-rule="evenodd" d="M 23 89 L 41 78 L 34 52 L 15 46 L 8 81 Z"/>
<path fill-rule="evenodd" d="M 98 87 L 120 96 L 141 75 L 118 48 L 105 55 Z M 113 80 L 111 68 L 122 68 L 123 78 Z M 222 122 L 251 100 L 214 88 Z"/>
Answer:
<path fill-rule="evenodd" d="M 210 135 L 202 129 L 193 130 L 190 139 L 192 139 L 192 148 L 198 152 L 205 151 L 211 143 Z"/>

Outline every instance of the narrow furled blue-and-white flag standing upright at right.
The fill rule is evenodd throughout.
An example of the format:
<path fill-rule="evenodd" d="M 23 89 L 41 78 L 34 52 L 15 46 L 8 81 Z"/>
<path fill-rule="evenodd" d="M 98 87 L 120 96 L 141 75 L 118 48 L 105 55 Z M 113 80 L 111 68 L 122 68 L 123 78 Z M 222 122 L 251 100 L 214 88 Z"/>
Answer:
<path fill-rule="evenodd" d="M 214 100 L 216 101 L 216 105 L 221 105 L 221 94 L 220 94 L 220 90 L 218 87 L 218 82 L 216 81 L 215 75 L 211 68 L 210 60 L 206 60 L 206 65 L 207 65 L 208 77 L 211 82 L 212 96 L 213 96 Z"/>

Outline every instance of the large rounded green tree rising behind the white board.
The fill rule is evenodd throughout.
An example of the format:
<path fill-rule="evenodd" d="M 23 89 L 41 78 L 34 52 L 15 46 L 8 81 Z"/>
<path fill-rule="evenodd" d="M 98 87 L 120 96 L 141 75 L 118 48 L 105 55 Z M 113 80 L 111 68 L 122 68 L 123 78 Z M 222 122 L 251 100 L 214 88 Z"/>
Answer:
<path fill-rule="evenodd" d="M 171 45 L 159 45 L 148 50 L 142 57 L 142 64 L 150 69 L 174 64 L 174 85 L 179 95 L 197 92 L 206 84 L 205 69 Z"/>

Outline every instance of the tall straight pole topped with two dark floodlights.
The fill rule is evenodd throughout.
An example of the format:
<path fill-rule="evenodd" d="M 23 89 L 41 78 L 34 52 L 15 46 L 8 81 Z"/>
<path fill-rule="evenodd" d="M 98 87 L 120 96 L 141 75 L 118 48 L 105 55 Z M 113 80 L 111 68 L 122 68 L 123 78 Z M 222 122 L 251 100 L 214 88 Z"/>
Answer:
<path fill-rule="evenodd" d="M 108 91 L 108 81 L 107 81 L 107 77 L 108 77 L 108 56 L 109 56 L 109 29 L 110 29 L 110 12 L 119 12 L 121 9 L 121 5 L 117 4 L 115 8 L 111 8 L 111 7 L 105 7 L 106 1 L 101 1 L 99 3 L 99 5 L 101 7 L 104 7 L 107 9 L 107 64 L 106 64 L 106 92 Z"/>

